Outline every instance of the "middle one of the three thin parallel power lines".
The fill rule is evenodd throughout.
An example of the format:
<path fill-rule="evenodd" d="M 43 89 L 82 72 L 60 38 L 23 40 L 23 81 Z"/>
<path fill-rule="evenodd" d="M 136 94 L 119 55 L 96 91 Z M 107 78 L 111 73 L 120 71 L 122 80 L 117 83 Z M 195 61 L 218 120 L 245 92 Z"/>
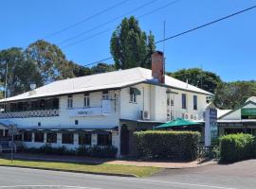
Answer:
<path fill-rule="evenodd" d="M 109 21 L 107 21 L 107 22 L 101 24 L 101 25 L 94 26 L 94 27 L 92 27 L 92 28 L 90 28 L 90 29 L 88 29 L 88 30 L 86 30 L 86 31 L 82 31 L 81 33 L 79 33 L 79 34 L 77 34 L 77 35 L 74 35 L 74 36 L 71 37 L 71 38 L 65 39 L 64 41 L 62 41 L 62 42 L 60 42 L 60 43 L 57 43 L 57 44 L 60 45 L 60 44 L 69 42 L 69 41 L 71 41 L 71 40 L 77 39 L 78 37 L 80 37 L 80 36 L 82 36 L 82 35 L 84 35 L 84 34 L 90 32 L 90 31 L 93 31 L 93 30 L 95 30 L 95 29 L 98 29 L 98 28 L 100 28 L 100 27 L 102 27 L 102 26 L 106 26 L 106 25 L 108 25 L 108 24 L 110 24 L 110 23 L 113 23 L 114 21 L 119 20 L 120 18 L 123 18 L 124 16 L 126 16 L 126 15 L 128 15 L 128 14 L 133 13 L 133 12 L 137 11 L 138 9 L 143 9 L 143 8 L 145 8 L 146 6 L 155 3 L 155 1 L 158 1 L 158 0 L 149 1 L 149 2 L 147 2 L 147 3 L 145 3 L 145 4 L 141 5 L 141 6 L 137 7 L 136 9 L 132 9 L 132 10 L 130 10 L 130 11 L 128 11 L 128 12 L 122 14 L 122 15 L 119 15 L 118 17 L 115 17 L 114 19 L 111 19 L 111 20 L 109 20 Z"/>

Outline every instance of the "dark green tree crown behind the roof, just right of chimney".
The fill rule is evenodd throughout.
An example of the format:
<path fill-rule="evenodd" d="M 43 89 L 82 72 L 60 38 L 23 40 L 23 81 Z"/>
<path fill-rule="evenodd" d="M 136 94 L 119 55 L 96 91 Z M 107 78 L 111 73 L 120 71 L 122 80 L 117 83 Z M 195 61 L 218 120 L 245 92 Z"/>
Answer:
<path fill-rule="evenodd" d="M 174 73 L 168 73 L 168 75 L 184 82 L 188 79 L 188 82 L 193 86 L 202 88 L 212 94 L 218 84 L 222 83 L 221 78 L 216 74 L 199 68 L 182 69 Z"/>

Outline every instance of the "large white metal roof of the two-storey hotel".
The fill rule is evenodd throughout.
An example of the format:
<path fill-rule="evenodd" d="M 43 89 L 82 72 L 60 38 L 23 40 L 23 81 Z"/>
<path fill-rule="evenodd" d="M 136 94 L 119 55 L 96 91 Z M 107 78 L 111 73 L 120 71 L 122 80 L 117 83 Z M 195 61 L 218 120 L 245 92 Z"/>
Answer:
<path fill-rule="evenodd" d="M 126 70 L 96 74 L 86 77 L 75 77 L 54 81 L 43 87 L 35 89 L 33 94 L 27 92 L 24 94 L 15 95 L 0 100 L 0 103 L 23 100 L 28 98 L 38 98 L 43 96 L 78 94 L 83 92 L 93 92 L 107 89 L 121 89 L 142 82 L 155 85 L 163 85 L 180 90 L 192 91 L 194 93 L 199 94 L 211 95 L 209 92 L 205 90 L 194 87 L 183 81 L 175 79 L 174 77 L 165 76 L 165 84 L 160 84 L 156 82 L 155 79 L 153 79 L 151 70 L 137 67 Z"/>

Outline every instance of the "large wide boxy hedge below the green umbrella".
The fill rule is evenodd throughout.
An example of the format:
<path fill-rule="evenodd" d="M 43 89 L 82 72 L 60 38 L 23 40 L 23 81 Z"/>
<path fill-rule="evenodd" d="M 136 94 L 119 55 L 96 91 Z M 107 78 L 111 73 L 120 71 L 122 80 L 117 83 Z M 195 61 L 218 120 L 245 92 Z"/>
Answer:
<path fill-rule="evenodd" d="M 148 130 L 134 133 L 140 158 L 195 160 L 200 133 Z"/>

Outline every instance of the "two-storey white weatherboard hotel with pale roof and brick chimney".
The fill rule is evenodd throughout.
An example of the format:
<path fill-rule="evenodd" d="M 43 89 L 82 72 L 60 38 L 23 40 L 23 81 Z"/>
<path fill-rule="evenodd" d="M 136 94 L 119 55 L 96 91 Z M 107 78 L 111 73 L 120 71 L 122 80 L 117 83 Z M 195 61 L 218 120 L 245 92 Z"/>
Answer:
<path fill-rule="evenodd" d="M 0 100 L 0 137 L 13 123 L 25 146 L 117 146 L 131 154 L 134 130 L 152 129 L 177 117 L 199 121 L 211 94 L 163 75 L 163 55 L 152 70 L 132 68 L 59 80 Z"/>

